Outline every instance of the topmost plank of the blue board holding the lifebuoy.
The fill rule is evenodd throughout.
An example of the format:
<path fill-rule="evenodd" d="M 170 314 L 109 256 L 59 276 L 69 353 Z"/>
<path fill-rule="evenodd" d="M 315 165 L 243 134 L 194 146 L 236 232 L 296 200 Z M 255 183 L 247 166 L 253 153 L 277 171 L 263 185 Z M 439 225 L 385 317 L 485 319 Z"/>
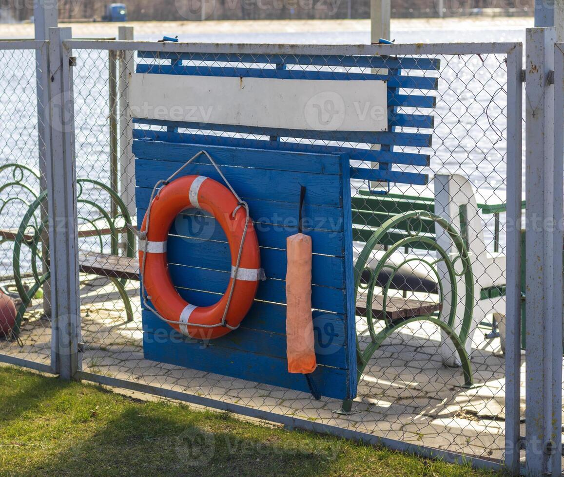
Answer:
<path fill-rule="evenodd" d="M 201 150 L 201 144 L 133 141 L 133 154 L 140 159 L 161 159 L 162 161 L 184 163 Z M 268 150 L 206 145 L 206 151 L 218 166 L 267 168 L 269 170 L 301 171 L 331 175 L 339 175 L 341 173 L 340 157 L 334 154 L 279 151 L 276 154 L 276 163 L 272 164 L 272 153 Z M 202 154 L 192 164 L 209 165 L 210 161 Z M 189 168 L 190 166 L 188 166 L 188 170 Z"/>

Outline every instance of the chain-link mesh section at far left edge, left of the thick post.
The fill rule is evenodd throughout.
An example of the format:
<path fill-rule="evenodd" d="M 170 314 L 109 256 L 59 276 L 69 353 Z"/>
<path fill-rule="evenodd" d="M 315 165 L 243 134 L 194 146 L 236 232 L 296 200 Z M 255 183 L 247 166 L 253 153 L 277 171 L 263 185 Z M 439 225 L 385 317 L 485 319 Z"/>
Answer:
<path fill-rule="evenodd" d="M 0 354 L 51 364 L 51 307 L 46 276 L 46 204 L 41 201 L 45 177 L 38 128 L 43 104 L 36 72 L 42 73 L 36 50 L 0 50 L 0 290 L 15 306 L 0 320 Z M 38 89 L 39 88 L 39 89 Z M 22 218 L 30 216 L 27 225 Z M 43 246 L 45 240 L 45 246 Z M 8 305 L 10 309 L 10 305 Z"/>

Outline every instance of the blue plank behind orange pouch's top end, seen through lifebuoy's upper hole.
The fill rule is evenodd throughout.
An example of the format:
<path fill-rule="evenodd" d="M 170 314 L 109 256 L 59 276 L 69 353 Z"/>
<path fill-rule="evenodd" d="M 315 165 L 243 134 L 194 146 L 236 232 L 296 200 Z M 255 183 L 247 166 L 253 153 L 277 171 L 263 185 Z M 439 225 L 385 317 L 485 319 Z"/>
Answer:
<path fill-rule="evenodd" d="M 140 190 L 139 188 L 137 190 Z M 141 189 L 147 191 L 147 194 L 143 194 L 145 197 L 151 193 L 149 189 Z M 139 194 L 138 194 L 139 196 Z M 275 204 L 274 202 L 272 202 Z M 290 204 L 288 204 L 290 205 Z M 296 208 L 296 204 L 292 204 L 293 208 Z M 195 238 L 206 238 L 209 240 L 215 240 L 218 242 L 225 242 L 226 237 L 220 226 L 215 225 L 215 219 L 204 215 L 203 211 L 191 209 L 188 211 L 190 213 L 182 213 L 173 222 L 173 226 L 170 228 L 171 235 L 180 235 L 183 237 L 195 237 Z M 146 209 L 139 209 L 140 217 L 143 217 L 146 213 Z M 288 216 L 280 216 L 288 217 Z M 290 219 L 291 220 L 291 219 Z M 325 219 L 321 219 L 324 220 Z M 281 219 L 282 221 L 282 219 Z M 288 219 L 284 220 L 287 222 Z M 309 220 L 305 221 L 309 223 Z M 140 222 L 138 222 L 140 223 Z M 291 223 L 294 220 L 291 220 Z M 336 228 L 341 226 L 342 221 L 336 219 L 334 222 Z M 329 226 L 327 222 L 326 226 Z M 298 233 L 297 226 L 288 225 L 272 225 L 262 222 L 255 222 L 255 231 L 257 232 L 258 243 L 261 247 L 268 248 L 286 248 L 286 239 L 290 235 Z M 304 233 L 311 236 L 312 248 L 315 254 L 321 255 L 333 255 L 338 257 L 345 256 L 345 245 L 342 231 L 328 231 L 328 230 L 314 230 L 310 228 L 304 228 Z"/>

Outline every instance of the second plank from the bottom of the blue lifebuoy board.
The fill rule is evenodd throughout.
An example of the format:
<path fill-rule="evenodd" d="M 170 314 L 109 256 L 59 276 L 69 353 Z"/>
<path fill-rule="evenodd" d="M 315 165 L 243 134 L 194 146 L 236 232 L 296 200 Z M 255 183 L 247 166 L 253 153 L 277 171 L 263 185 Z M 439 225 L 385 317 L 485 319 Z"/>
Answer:
<path fill-rule="evenodd" d="M 151 312 L 143 311 L 143 313 L 150 314 Z M 158 320 L 158 318 L 156 319 Z M 168 338 L 173 342 L 189 341 L 191 345 L 194 345 L 191 342 L 192 340 L 185 340 L 180 333 L 174 331 L 168 324 L 162 321 L 161 323 L 157 328 L 143 327 L 143 329 L 146 333 L 152 333 L 163 340 Z M 318 334 L 325 335 L 325 340 L 323 340 L 323 337 L 321 341 L 315 340 L 315 353 L 318 365 L 346 369 L 347 356 L 343 353 L 343 350 L 346 349 L 346 337 L 343 323 L 325 320 L 322 328 L 316 327 L 314 329 L 314 336 Z M 202 343 L 202 345 L 204 344 Z M 228 335 L 213 340 L 213 346 L 223 348 L 226 355 L 231 354 L 233 350 L 237 350 L 249 351 L 262 356 L 273 356 L 275 358 L 284 359 L 286 357 L 285 332 L 274 333 L 241 326 L 239 329 L 228 333 Z"/>

